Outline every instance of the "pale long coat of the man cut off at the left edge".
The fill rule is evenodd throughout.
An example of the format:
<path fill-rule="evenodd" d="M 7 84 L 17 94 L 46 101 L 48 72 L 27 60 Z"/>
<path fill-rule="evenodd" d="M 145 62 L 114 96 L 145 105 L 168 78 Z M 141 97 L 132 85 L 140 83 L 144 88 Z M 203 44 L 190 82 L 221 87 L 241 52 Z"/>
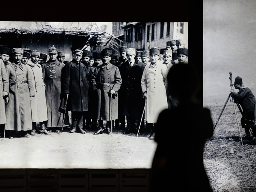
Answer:
<path fill-rule="evenodd" d="M 0 125 L 6 123 L 5 99 L 3 98 L 3 92 L 9 92 L 9 79 L 7 77 L 4 62 L 0 59 Z"/>

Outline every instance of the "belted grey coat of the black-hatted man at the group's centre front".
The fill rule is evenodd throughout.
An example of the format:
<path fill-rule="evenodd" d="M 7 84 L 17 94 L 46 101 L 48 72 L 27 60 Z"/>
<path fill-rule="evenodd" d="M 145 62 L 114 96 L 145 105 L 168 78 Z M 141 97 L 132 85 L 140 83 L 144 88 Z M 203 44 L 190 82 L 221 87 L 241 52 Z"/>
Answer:
<path fill-rule="evenodd" d="M 100 118 L 99 120 L 111 121 L 117 119 L 118 116 L 118 98 L 117 96 L 108 96 L 110 90 L 118 92 L 122 83 L 121 75 L 118 67 L 111 63 L 98 66 L 92 77 L 93 90 L 101 91 L 100 100 Z M 110 100 L 111 99 L 111 100 Z"/>

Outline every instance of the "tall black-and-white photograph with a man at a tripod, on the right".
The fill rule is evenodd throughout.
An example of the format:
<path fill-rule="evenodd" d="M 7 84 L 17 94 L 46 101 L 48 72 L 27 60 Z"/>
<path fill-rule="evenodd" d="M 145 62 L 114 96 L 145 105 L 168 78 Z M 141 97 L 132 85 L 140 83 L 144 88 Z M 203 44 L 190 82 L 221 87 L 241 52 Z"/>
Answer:
<path fill-rule="evenodd" d="M 255 1 L 203 1 L 203 105 L 213 136 L 204 166 L 212 190 L 256 191 Z"/>

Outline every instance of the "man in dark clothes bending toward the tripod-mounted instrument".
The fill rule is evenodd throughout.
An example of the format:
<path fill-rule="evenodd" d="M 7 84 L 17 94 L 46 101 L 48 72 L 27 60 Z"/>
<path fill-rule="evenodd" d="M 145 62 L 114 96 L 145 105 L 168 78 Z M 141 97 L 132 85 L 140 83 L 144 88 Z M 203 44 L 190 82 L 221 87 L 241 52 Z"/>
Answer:
<path fill-rule="evenodd" d="M 235 89 L 238 89 L 238 93 L 235 93 Z M 242 118 L 241 118 L 241 125 L 242 128 L 245 129 L 246 136 L 243 139 L 252 139 L 250 135 L 250 128 L 253 132 L 253 137 L 256 137 L 255 132 L 255 107 L 256 107 L 256 100 L 255 96 L 252 94 L 251 90 L 248 87 L 245 87 L 242 82 L 241 77 L 235 78 L 234 87 L 231 87 L 230 92 L 231 96 L 235 99 L 236 103 L 239 103 L 243 109 Z"/>

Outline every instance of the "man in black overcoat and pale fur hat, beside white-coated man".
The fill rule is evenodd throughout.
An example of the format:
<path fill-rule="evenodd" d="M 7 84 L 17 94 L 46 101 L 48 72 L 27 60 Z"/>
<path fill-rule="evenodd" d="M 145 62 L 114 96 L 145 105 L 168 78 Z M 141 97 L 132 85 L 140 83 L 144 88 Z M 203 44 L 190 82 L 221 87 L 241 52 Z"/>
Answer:
<path fill-rule="evenodd" d="M 124 134 L 129 134 L 130 132 L 137 134 L 145 103 L 141 89 L 141 78 L 145 64 L 140 61 L 136 64 L 135 49 L 130 48 L 125 51 L 128 60 L 119 67 L 122 84 L 118 95 L 124 97 L 123 114 L 127 117 L 127 130 L 124 131 Z"/>

